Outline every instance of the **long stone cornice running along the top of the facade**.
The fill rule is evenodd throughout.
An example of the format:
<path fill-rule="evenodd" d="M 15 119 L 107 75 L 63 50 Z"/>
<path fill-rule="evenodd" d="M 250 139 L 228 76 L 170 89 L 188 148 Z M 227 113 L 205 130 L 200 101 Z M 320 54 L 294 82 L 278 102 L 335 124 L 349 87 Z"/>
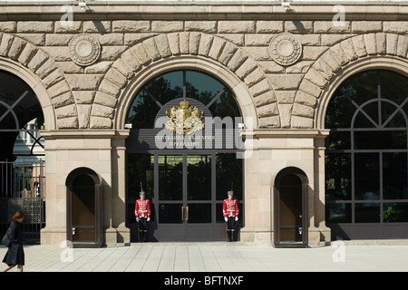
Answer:
<path fill-rule="evenodd" d="M 52 20 L 73 5 L 75 20 L 82 19 L 332 19 L 335 5 L 345 7 L 346 20 L 406 20 L 408 2 L 291 2 L 286 12 L 281 2 L 127 2 L 88 1 L 81 9 L 77 1 L 0 3 L 0 20 Z"/>

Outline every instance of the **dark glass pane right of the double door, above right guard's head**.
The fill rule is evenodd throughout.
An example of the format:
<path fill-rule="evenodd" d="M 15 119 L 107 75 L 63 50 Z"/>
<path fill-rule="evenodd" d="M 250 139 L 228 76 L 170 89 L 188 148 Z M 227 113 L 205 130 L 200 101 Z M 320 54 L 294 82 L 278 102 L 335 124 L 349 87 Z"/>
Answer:
<path fill-rule="evenodd" d="M 228 198 L 227 192 L 234 184 L 234 198 L 242 199 L 242 160 L 237 159 L 235 153 L 217 154 L 217 200 Z"/>

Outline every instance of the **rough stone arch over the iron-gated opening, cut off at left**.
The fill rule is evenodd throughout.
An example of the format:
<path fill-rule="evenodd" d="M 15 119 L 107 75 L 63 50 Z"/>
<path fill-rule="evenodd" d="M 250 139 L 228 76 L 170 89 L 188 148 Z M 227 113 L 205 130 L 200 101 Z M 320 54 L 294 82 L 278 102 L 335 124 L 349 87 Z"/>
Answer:
<path fill-rule="evenodd" d="M 20 37 L 0 37 L 0 69 L 14 73 L 34 90 L 43 107 L 46 130 L 78 128 L 71 88 L 53 59 Z"/>

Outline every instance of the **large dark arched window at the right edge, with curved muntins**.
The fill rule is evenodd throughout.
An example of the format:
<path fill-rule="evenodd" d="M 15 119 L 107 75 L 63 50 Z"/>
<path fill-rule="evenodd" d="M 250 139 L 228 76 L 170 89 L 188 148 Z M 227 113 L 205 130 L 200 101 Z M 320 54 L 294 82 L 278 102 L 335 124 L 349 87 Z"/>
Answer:
<path fill-rule="evenodd" d="M 408 237 L 407 102 L 408 79 L 391 71 L 357 73 L 335 91 L 325 116 L 334 239 Z"/>

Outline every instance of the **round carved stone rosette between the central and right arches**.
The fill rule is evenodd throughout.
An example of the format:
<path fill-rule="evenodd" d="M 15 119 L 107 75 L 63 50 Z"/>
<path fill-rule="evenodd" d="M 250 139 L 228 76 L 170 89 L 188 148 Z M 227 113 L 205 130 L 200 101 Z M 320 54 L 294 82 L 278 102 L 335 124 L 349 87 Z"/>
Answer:
<path fill-rule="evenodd" d="M 277 34 L 269 43 L 269 54 L 281 65 L 296 63 L 302 54 L 302 43 L 293 34 Z"/>

